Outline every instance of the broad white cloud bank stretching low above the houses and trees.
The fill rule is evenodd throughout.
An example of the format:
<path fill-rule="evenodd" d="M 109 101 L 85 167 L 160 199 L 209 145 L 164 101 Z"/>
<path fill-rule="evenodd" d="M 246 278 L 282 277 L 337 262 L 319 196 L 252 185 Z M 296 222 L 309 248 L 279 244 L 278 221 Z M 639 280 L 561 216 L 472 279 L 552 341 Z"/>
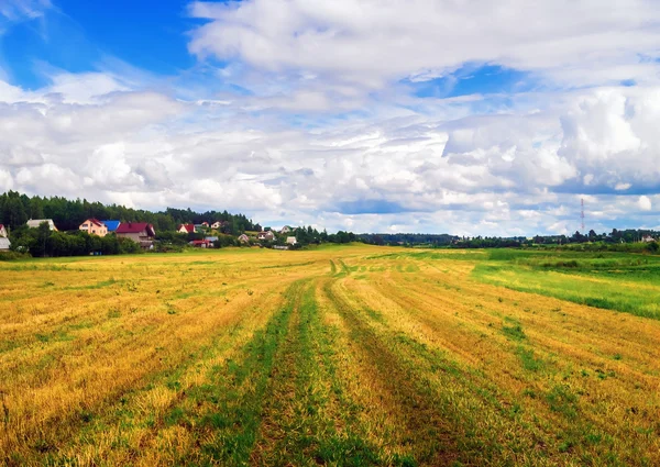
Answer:
<path fill-rule="evenodd" d="M 230 209 L 274 225 L 525 235 L 578 230 L 585 187 L 604 187 L 584 198 L 594 227 L 606 230 L 652 208 L 617 190 L 660 184 L 652 164 L 631 164 L 652 163 L 649 148 L 660 145 L 653 88 L 583 91 L 531 114 L 384 113 L 310 130 L 245 114 L 249 98 L 204 105 L 100 87 L 73 102 L 50 91 L 0 103 L 4 189 Z"/>

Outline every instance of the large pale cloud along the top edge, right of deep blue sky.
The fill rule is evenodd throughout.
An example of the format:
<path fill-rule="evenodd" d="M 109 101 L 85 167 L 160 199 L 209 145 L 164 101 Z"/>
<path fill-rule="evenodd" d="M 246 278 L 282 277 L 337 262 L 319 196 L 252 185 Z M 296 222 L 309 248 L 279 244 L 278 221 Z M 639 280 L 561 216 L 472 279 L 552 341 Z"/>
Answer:
<path fill-rule="evenodd" d="M 660 7 L 647 0 L 250 0 L 195 2 L 190 14 L 209 20 L 194 31 L 195 54 L 369 88 L 470 62 L 537 70 L 553 81 L 652 77 L 654 67 L 638 57 L 654 55 L 660 38 Z"/>

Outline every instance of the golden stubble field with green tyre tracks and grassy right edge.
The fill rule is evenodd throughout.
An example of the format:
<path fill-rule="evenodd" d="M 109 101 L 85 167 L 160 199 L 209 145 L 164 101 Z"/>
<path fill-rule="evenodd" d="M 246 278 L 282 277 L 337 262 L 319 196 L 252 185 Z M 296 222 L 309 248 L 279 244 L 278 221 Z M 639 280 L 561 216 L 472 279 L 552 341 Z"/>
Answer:
<path fill-rule="evenodd" d="M 0 465 L 660 465 L 660 262 L 0 263 Z"/>

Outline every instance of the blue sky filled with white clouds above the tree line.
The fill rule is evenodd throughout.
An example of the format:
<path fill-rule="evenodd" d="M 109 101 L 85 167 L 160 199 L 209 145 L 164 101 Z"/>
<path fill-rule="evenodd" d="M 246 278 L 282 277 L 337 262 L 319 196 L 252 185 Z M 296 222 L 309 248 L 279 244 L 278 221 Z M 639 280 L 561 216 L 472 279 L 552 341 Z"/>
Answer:
<path fill-rule="evenodd" d="M 0 0 L 0 192 L 660 230 L 657 0 Z"/>

